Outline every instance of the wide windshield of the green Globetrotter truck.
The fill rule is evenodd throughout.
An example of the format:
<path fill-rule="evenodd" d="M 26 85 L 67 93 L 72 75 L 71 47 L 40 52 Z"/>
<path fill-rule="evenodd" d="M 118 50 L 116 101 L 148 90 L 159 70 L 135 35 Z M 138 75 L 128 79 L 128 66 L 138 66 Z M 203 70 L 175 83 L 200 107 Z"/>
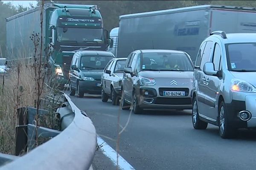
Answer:
<path fill-rule="evenodd" d="M 103 42 L 102 28 L 57 28 L 58 42 Z"/>

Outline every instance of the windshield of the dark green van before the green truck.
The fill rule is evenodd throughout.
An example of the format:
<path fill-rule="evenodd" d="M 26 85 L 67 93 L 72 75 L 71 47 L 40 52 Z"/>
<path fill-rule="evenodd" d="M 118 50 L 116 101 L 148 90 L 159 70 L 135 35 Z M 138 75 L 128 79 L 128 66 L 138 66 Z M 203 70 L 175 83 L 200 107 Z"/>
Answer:
<path fill-rule="evenodd" d="M 108 64 L 109 60 L 113 59 L 110 56 L 82 56 L 81 57 L 81 70 L 99 69 L 103 70 Z"/>

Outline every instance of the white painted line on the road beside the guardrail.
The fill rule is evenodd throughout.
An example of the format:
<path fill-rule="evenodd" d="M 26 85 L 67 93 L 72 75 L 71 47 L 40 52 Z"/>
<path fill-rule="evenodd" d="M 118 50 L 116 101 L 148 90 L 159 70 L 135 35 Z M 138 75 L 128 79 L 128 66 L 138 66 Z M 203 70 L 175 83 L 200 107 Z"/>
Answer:
<path fill-rule="evenodd" d="M 97 136 L 97 142 L 99 145 L 102 145 L 101 150 L 102 153 L 107 156 L 113 164 L 116 166 L 116 151 L 113 150 L 111 146 L 109 146 L 101 137 Z M 121 170 L 135 170 L 134 167 L 131 166 L 122 156 L 118 154 L 118 166 Z"/>

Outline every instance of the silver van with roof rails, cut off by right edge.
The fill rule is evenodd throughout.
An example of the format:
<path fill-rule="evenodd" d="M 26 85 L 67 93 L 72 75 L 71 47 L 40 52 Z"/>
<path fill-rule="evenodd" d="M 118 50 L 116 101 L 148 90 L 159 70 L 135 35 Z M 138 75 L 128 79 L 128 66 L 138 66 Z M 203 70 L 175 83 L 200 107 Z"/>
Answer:
<path fill-rule="evenodd" d="M 195 62 L 192 124 L 217 125 L 222 138 L 256 127 L 256 34 L 215 31 Z"/>

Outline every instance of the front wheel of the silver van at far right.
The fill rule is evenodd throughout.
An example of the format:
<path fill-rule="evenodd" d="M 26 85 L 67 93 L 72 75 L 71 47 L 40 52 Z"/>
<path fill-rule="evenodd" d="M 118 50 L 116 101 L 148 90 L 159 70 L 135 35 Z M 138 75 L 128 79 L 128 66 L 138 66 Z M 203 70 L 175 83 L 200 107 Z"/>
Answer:
<path fill-rule="evenodd" d="M 219 134 L 223 139 L 231 139 L 236 136 L 237 128 L 229 121 L 224 101 L 220 103 L 218 108 Z"/>

